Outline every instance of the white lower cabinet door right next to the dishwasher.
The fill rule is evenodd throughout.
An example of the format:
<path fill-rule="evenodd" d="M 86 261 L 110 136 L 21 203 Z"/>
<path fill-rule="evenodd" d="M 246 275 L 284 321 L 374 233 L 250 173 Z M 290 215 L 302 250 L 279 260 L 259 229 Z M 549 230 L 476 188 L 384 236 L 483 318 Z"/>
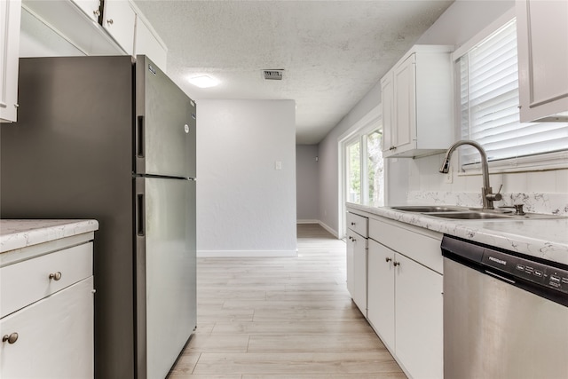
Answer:
<path fill-rule="evenodd" d="M 396 355 L 414 378 L 442 378 L 442 275 L 397 254 Z"/>

